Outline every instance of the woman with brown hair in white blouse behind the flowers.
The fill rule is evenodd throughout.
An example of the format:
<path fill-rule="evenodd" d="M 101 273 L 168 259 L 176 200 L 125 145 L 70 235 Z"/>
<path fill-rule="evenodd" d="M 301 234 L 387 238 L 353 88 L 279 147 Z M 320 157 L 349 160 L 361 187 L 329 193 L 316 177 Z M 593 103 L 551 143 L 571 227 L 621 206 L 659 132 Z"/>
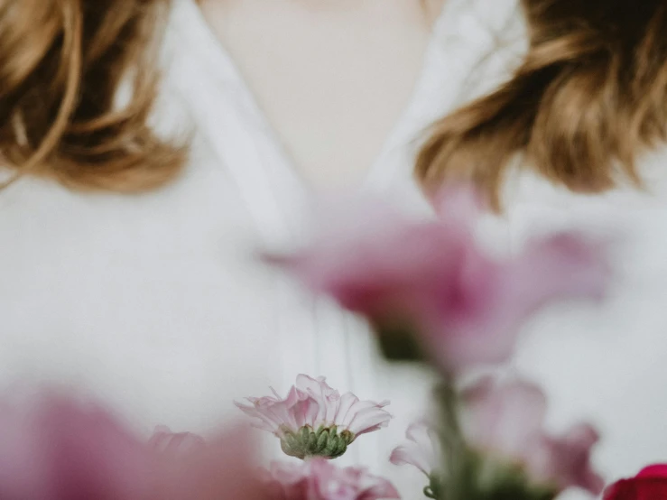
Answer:
<path fill-rule="evenodd" d="M 662 199 L 613 174 L 653 187 L 635 160 L 664 138 L 666 15 L 657 0 L 3 0 L 2 380 L 79 384 L 148 428 L 197 431 L 234 415 L 234 397 L 327 375 L 392 399 L 394 437 L 349 458 L 384 463 L 425 375 L 390 373 L 356 319 L 248 249 L 294 245 L 314 190 L 428 212 L 422 189 L 465 177 L 502 206 L 487 236 L 510 251 L 533 222 L 635 231 L 621 261 L 634 289 L 595 318 L 541 316 L 519 364 L 557 422 L 598 415 L 610 472 L 657 458 L 667 435 L 646 413 L 667 401 L 620 383 L 639 366 L 644 387 L 662 376 Z M 504 175 L 516 153 L 523 173 Z"/>

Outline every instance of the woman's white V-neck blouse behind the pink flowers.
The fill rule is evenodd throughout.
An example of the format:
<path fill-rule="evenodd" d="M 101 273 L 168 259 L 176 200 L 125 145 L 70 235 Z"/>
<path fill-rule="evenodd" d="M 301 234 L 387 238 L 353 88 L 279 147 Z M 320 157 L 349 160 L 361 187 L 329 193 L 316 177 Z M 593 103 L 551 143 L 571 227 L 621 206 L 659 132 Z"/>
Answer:
<path fill-rule="evenodd" d="M 517 0 L 447 0 L 412 101 L 359 189 L 428 214 L 412 181 L 424 127 L 493 88 L 523 45 Z M 178 181 L 142 196 L 36 179 L 0 192 L 0 384 L 72 384 L 146 433 L 205 432 L 241 416 L 235 398 L 325 375 L 341 391 L 392 400 L 388 430 L 358 440 L 342 463 L 407 484 L 411 471 L 397 474 L 387 458 L 422 413 L 429 375 L 386 366 L 363 322 L 258 264 L 257 248 L 301 240 L 313 193 L 194 0 L 174 2 L 163 52 L 155 126 L 193 132 Z M 482 227 L 492 250 L 517 250 L 533 226 L 625 229 L 610 303 L 539 315 L 513 369 L 545 384 L 555 428 L 599 423 L 608 473 L 667 458 L 667 198 L 575 197 L 522 176 L 507 200 L 507 214 Z"/>

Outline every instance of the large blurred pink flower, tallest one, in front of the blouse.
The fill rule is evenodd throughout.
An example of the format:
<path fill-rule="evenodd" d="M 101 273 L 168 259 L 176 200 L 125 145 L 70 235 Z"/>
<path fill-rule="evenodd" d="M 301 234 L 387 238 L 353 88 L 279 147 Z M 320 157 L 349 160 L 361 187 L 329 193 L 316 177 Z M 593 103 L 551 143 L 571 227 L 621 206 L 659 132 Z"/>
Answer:
<path fill-rule="evenodd" d="M 607 265 L 599 245 L 574 233 L 492 259 L 473 235 L 474 198 L 472 190 L 444 190 L 437 220 L 407 218 L 379 202 L 348 202 L 322 218 L 310 245 L 266 259 L 365 315 L 391 356 L 409 357 L 407 330 L 447 373 L 503 362 L 535 310 L 551 301 L 600 298 Z M 397 355 L 390 348 L 396 342 Z"/>

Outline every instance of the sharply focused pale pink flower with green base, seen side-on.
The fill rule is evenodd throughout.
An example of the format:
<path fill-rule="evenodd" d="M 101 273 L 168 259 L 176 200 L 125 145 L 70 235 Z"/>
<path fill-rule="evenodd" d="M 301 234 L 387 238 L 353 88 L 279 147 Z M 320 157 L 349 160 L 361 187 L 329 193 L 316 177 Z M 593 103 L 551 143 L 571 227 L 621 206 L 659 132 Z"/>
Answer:
<path fill-rule="evenodd" d="M 273 389 L 272 389 L 273 390 Z M 250 397 L 251 404 L 236 402 L 258 427 L 273 432 L 283 451 L 297 458 L 337 458 L 358 436 L 385 427 L 392 416 L 389 402 L 360 401 L 355 394 L 338 394 L 324 377 L 299 375 L 287 397 Z"/>

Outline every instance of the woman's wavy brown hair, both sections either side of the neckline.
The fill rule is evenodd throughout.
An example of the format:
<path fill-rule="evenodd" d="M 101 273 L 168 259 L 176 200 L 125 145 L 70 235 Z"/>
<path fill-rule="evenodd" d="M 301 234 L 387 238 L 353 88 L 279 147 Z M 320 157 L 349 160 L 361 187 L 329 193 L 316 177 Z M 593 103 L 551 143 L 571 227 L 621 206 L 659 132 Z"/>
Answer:
<path fill-rule="evenodd" d="M 418 176 L 427 188 L 473 180 L 496 207 L 516 153 L 572 190 L 613 187 L 616 170 L 638 182 L 636 156 L 667 135 L 667 4 L 522 2 L 531 42 L 523 64 L 433 125 Z M 168 4 L 0 0 L 2 161 L 79 189 L 136 191 L 171 180 L 185 152 L 146 123 L 153 42 Z M 118 109 L 117 89 L 130 76 L 134 93 Z"/>

